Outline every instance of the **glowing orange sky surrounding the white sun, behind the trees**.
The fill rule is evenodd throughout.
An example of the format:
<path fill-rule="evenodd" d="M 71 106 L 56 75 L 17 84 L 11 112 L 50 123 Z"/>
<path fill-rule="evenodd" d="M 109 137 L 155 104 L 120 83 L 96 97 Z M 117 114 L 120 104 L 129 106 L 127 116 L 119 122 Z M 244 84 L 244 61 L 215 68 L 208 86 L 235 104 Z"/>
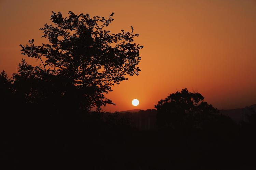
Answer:
<path fill-rule="evenodd" d="M 17 72 L 19 44 L 46 43 L 39 30 L 51 11 L 91 16 L 114 12 L 109 29 L 140 37 L 141 72 L 113 87 L 116 106 L 105 111 L 153 108 L 177 90 L 200 92 L 218 109 L 256 104 L 256 1 L 0 1 L 0 70 Z M 25 57 L 27 59 L 27 57 Z M 33 61 L 31 58 L 28 61 Z M 131 100 L 140 100 L 132 106 Z"/>

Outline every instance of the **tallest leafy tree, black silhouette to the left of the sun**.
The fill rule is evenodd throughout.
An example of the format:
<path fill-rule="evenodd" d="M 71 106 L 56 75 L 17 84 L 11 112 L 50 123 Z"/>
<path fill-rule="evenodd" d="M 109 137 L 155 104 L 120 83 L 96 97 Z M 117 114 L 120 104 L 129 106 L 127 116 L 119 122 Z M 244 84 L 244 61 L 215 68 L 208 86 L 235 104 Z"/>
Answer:
<path fill-rule="evenodd" d="M 111 86 L 127 80 L 126 75 L 139 74 L 139 50 L 143 46 L 133 43 L 139 34 L 125 32 L 112 34 L 105 30 L 114 20 L 89 14 L 69 12 L 63 17 L 53 12 L 54 23 L 45 24 L 42 37 L 49 43 L 37 46 L 20 45 L 23 55 L 40 61 L 31 66 L 25 60 L 14 74 L 16 93 L 26 102 L 43 103 L 53 108 L 68 106 L 89 111 L 100 110 L 102 105 L 113 104 L 104 94 Z"/>

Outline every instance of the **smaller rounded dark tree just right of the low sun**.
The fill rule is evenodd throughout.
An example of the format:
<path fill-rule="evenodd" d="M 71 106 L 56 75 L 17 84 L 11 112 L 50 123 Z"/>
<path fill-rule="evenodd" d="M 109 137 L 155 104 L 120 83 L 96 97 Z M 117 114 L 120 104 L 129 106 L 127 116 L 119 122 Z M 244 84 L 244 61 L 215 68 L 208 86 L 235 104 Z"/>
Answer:
<path fill-rule="evenodd" d="M 158 126 L 177 128 L 191 123 L 201 126 L 200 124 L 207 121 L 212 113 L 218 113 L 218 109 L 203 99 L 200 93 L 189 92 L 187 88 L 170 94 L 155 105 Z"/>

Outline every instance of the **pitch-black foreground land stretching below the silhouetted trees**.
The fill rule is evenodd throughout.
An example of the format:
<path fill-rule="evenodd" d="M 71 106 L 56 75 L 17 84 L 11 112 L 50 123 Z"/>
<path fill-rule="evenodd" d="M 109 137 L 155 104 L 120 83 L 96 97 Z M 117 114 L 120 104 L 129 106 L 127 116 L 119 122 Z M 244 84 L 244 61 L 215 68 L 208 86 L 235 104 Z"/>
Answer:
<path fill-rule="evenodd" d="M 1 119 L 1 160 L 10 169 L 255 168 L 255 124 L 225 120 L 203 128 L 156 128 L 155 109 L 109 113 L 104 120 L 98 113 L 56 115 L 50 121 L 35 117 L 33 122 L 19 115 Z"/>

